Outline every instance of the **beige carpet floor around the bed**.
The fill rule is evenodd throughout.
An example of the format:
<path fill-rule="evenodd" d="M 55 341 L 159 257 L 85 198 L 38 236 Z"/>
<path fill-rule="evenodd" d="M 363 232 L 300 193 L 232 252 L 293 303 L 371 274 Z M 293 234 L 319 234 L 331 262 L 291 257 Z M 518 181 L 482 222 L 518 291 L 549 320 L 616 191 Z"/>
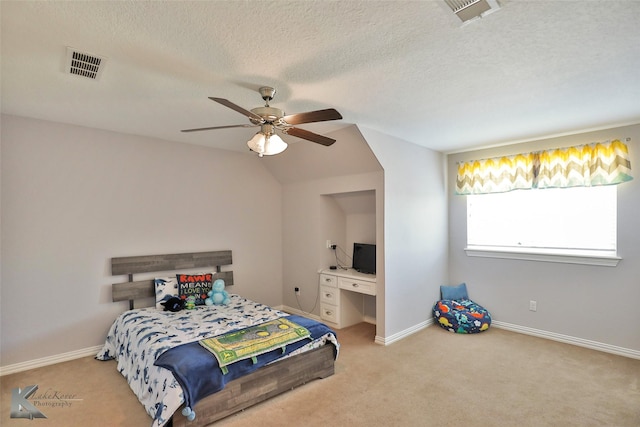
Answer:
<path fill-rule="evenodd" d="M 431 326 L 388 346 L 366 323 L 337 334 L 335 375 L 215 426 L 640 426 L 640 360 L 496 328 Z M 3 427 L 151 424 L 115 361 L 86 357 L 0 382 Z M 11 418 L 12 390 L 34 384 L 47 418 Z"/>

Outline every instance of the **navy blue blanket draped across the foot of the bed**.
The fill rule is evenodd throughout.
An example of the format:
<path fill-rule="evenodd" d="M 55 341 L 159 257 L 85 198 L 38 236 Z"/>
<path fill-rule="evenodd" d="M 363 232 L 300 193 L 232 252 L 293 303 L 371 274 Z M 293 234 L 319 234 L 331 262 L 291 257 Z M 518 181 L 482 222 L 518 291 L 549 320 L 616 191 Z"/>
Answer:
<path fill-rule="evenodd" d="M 287 319 L 304 326 L 311 333 L 312 340 L 325 334 L 334 334 L 329 327 L 315 320 L 301 316 L 287 316 Z M 258 368 L 282 358 L 312 340 L 304 339 L 289 344 L 283 353 L 281 349 L 273 350 L 258 356 L 257 363 L 251 359 L 240 360 L 228 365 L 229 372 L 222 374 L 218 360 L 198 342 L 191 342 L 167 350 L 154 363 L 170 370 L 184 391 L 185 406 L 193 408 L 204 397 L 222 390 L 225 385 L 236 378 L 249 374 Z M 334 347 L 334 357 L 337 349 Z"/>

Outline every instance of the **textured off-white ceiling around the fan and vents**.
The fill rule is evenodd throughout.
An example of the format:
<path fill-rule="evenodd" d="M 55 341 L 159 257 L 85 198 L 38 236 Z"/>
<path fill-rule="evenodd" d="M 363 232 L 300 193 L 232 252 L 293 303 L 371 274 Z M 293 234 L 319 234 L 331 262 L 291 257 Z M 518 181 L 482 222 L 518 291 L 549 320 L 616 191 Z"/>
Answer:
<path fill-rule="evenodd" d="M 502 5 L 462 25 L 444 1 L 2 1 L 2 112 L 243 151 L 256 129 L 180 129 L 248 123 L 207 97 L 251 109 L 263 85 L 344 116 L 306 129 L 444 152 L 640 122 L 639 1 Z M 64 73 L 67 46 L 101 77 Z"/>

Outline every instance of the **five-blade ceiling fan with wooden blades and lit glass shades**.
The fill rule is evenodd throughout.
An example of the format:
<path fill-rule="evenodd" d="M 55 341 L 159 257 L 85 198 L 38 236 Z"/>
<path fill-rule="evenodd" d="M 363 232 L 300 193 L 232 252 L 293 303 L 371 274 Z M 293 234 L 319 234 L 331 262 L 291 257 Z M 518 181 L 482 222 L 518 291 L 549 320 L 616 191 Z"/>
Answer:
<path fill-rule="evenodd" d="M 264 155 L 274 155 L 282 153 L 287 148 L 287 143 L 282 140 L 277 134 L 276 130 L 281 131 L 284 134 L 297 136 L 298 138 L 306 139 L 317 144 L 329 146 L 336 142 L 335 139 L 319 135 L 317 133 L 310 132 L 305 129 L 294 127 L 294 125 L 300 125 L 304 123 L 324 122 L 329 120 L 340 120 L 342 116 L 338 111 L 333 108 L 327 108 L 325 110 L 309 111 L 306 113 L 285 115 L 284 111 L 279 108 L 269 106 L 269 101 L 273 99 L 276 90 L 272 87 L 263 86 L 259 90 L 260 96 L 265 101 L 264 107 L 253 108 L 251 111 L 234 104 L 233 102 L 224 98 L 209 97 L 210 100 L 215 101 L 225 107 L 231 108 L 234 111 L 246 116 L 251 124 L 244 125 L 227 125 L 227 126 L 214 126 L 197 129 L 183 129 L 182 132 L 198 132 L 203 130 L 213 129 L 228 129 L 228 128 L 246 128 L 260 126 L 260 131 L 251 138 L 247 145 L 249 149 L 258 153 L 260 157 Z"/>

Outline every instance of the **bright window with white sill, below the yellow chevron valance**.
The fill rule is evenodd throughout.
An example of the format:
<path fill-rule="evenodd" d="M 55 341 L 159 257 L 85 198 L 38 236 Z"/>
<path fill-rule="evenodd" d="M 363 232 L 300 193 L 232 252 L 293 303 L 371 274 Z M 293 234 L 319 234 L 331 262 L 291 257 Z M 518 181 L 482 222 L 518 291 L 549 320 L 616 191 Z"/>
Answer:
<path fill-rule="evenodd" d="M 468 255 L 602 265 L 619 260 L 615 185 L 466 197 Z"/>

